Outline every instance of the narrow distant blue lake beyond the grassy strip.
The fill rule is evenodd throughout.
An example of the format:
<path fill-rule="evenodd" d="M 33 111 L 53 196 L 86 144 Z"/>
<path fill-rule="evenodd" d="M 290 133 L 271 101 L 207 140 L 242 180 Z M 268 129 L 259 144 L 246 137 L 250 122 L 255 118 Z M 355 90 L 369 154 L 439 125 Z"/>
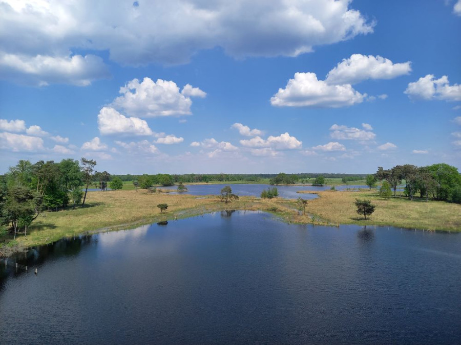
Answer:
<path fill-rule="evenodd" d="M 297 191 L 325 191 L 329 190 L 330 186 L 271 186 L 271 185 L 252 185 L 252 184 L 238 184 L 231 183 L 229 185 L 185 185 L 188 189 L 187 192 L 181 192 L 191 195 L 219 195 L 221 194 L 221 189 L 225 186 L 231 186 L 232 193 L 237 194 L 238 196 L 260 196 L 263 190 L 268 188 L 277 188 L 279 192 L 279 197 L 287 199 L 298 199 L 302 197 L 303 199 L 313 199 L 317 198 L 315 194 L 300 194 Z M 160 187 L 161 189 L 172 189 L 177 190 L 177 186 L 169 187 Z M 335 186 L 337 190 L 346 190 L 347 188 L 367 188 L 367 186 Z M 177 192 L 172 192 L 177 193 Z"/>

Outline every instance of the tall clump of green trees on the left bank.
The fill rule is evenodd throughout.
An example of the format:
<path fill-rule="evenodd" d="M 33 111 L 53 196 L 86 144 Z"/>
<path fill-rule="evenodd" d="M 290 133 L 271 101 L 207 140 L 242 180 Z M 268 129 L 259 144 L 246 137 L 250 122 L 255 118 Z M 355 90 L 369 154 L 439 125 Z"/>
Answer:
<path fill-rule="evenodd" d="M 95 171 L 96 161 L 81 158 L 19 160 L 6 174 L 0 175 L 0 226 L 2 233 L 24 231 L 42 211 L 58 211 L 69 205 L 85 205 L 88 188 L 92 185 L 106 189 L 121 189 L 123 182 L 112 178 L 107 171 Z M 83 192 L 82 187 L 85 187 Z"/>

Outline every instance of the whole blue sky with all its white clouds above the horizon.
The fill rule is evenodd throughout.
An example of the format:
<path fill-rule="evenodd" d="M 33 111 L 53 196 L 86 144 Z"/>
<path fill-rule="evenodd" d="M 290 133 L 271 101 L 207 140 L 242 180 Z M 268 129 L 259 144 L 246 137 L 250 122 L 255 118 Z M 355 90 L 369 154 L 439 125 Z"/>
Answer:
<path fill-rule="evenodd" d="M 461 170 L 461 0 L 0 0 L 0 173 Z"/>

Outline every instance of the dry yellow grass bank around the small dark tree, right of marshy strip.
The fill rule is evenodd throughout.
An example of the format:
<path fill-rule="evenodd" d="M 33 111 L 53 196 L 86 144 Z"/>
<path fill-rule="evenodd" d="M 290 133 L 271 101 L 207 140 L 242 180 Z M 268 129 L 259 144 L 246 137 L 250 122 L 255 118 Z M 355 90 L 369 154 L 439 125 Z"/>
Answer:
<path fill-rule="evenodd" d="M 388 225 L 404 228 L 461 231 L 461 205 L 445 201 L 414 198 L 382 199 L 374 190 L 358 192 L 324 191 L 309 200 L 306 212 L 333 224 Z M 300 194 L 302 197 L 302 194 Z M 355 212 L 354 201 L 369 199 L 376 204 L 374 213 L 363 220 Z"/>

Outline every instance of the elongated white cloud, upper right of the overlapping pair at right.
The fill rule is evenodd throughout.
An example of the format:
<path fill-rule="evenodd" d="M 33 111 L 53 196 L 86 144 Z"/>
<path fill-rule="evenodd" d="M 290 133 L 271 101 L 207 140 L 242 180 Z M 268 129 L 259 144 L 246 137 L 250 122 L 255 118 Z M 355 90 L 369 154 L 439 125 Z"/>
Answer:
<path fill-rule="evenodd" d="M 411 62 L 392 63 L 382 56 L 352 54 L 334 67 L 325 79 L 328 84 L 355 84 L 367 79 L 392 79 L 411 72 Z"/>

